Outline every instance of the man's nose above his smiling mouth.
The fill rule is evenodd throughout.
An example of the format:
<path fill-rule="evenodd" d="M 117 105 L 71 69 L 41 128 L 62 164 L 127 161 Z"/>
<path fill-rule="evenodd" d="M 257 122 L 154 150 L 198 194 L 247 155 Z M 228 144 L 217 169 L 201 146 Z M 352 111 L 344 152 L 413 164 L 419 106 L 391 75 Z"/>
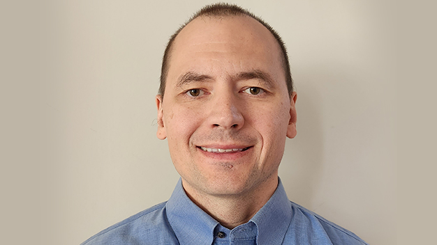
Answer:
<path fill-rule="evenodd" d="M 209 125 L 223 129 L 240 129 L 244 125 L 241 105 L 232 93 L 216 96 L 209 113 Z"/>

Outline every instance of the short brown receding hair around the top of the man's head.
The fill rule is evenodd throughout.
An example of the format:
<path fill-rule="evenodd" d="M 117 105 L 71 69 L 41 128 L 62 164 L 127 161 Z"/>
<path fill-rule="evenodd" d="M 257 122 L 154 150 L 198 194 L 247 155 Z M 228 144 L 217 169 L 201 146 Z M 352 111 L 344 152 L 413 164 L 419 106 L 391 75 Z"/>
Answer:
<path fill-rule="evenodd" d="M 281 36 L 279 36 L 279 34 L 276 31 L 274 31 L 272 26 L 267 24 L 260 17 L 253 15 L 253 13 L 250 13 L 249 10 L 245 10 L 237 5 L 229 4 L 229 3 L 215 3 L 203 7 L 201 10 L 195 13 L 190 19 L 188 19 L 188 21 L 185 22 L 185 24 L 179 27 L 179 29 L 177 29 L 177 31 L 171 36 L 170 40 L 168 41 L 167 47 L 165 48 L 165 52 L 163 56 L 163 64 L 161 67 L 161 84 L 158 90 L 159 95 L 164 96 L 165 80 L 167 79 L 167 74 L 168 74 L 168 62 L 170 60 L 170 53 L 172 50 L 173 42 L 175 42 L 175 38 L 182 31 L 182 29 L 184 29 L 184 27 L 187 24 L 193 21 L 193 19 L 201 16 L 208 16 L 208 17 L 249 16 L 255 19 L 256 21 L 260 22 L 260 24 L 262 24 L 263 26 L 265 26 L 270 31 L 270 33 L 272 33 L 272 35 L 278 42 L 279 47 L 281 47 L 282 66 L 286 74 L 286 84 L 288 88 L 288 93 L 291 95 L 293 91 L 293 81 L 291 78 L 290 63 L 288 62 L 286 45 L 282 41 Z"/>

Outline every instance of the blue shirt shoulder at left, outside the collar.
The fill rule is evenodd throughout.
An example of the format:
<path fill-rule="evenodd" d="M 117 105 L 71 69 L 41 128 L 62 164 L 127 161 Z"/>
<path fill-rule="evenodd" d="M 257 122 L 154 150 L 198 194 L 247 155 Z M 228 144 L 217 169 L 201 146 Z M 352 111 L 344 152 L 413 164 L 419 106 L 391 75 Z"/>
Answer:
<path fill-rule="evenodd" d="M 165 203 L 143 210 L 87 239 L 81 245 L 176 244 Z"/>

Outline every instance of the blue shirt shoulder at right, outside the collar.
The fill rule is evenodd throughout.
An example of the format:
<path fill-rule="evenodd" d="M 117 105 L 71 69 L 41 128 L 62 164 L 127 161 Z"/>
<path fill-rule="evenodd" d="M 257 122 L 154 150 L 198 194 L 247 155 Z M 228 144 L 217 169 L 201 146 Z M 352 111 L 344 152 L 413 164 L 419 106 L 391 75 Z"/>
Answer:
<path fill-rule="evenodd" d="M 318 244 L 367 244 L 353 232 L 328 221 L 301 205 L 293 202 L 290 203 L 292 206 L 292 221 L 288 229 L 288 233 L 290 233 L 288 235 L 291 237 L 299 237 L 299 239 L 304 239 L 305 241 L 306 239 L 316 239 L 320 242 Z"/>

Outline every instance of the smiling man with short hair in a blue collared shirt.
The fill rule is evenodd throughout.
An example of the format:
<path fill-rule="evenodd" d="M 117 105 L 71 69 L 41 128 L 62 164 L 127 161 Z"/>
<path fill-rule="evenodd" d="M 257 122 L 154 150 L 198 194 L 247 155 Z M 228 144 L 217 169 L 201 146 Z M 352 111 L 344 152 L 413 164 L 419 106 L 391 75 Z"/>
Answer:
<path fill-rule="evenodd" d="M 181 180 L 168 202 L 83 244 L 366 244 L 286 196 L 278 168 L 296 99 L 269 25 L 237 6 L 202 8 L 170 39 L 156 96 Z"/>

